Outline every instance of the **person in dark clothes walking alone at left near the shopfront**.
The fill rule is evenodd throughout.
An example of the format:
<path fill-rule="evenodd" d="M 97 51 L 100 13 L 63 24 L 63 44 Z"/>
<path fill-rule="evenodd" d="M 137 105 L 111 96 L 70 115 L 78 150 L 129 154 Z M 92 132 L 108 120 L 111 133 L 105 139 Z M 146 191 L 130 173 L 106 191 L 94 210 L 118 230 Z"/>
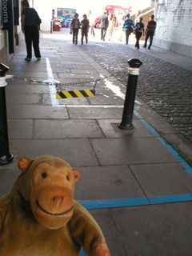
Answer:
<path fill-rule="evenodd" d="M 26 39 L 26 61 L 31 61 L 32 58 L 32 42 L 34 47 L 34 55 L 40 60 L 41 54 L 39 49 L 39 30 L 41 19 L 34 8 L 30 8 L 27 0 L 22 1 L 22 30 Z"/>

